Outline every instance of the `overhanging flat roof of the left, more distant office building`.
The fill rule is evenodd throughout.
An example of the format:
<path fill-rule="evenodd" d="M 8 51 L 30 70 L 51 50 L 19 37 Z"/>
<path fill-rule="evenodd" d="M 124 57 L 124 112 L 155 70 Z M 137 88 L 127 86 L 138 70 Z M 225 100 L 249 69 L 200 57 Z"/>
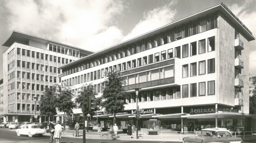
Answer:
<path fill-rule="evenodd" d="M 47 40 L 47 39 L 33 36 L 30 34 L 25 34 L 25 33 L 19 32 L 19 31 L 12 31 L 12 34 L 6 39 L 6 41 L 2 44 L 2 46 L 10 47 L 16 41 L 20 42 L 20 43 L 27 43 L 28 40 L 34 40 L 34 41 L 37 41 L 40 43 L 45 43 L 45 44 L 51 43 L 51 44 L 57 44 L 58 46 L 74 48 L 74 49 L 79 50 L 81 53 L 86 53 L 88 55 L 94 53 L 93 51 L 84 50 L 84 49 L 81 49 L 81 48 L 78 48 L 75 46 L 69 46 L 69 45 L 66 45 L 63 43 L 59 43 L 59 42 L 56 42 L 53 40 Z"/>

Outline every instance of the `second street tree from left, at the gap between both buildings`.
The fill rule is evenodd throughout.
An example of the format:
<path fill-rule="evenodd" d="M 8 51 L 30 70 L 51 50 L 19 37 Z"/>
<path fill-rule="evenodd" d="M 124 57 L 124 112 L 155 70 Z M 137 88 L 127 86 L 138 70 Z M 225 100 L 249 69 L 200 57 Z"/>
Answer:
<path fill-rule="evenodd" d="M 65 122 L 68 120 L 68 116 L 73 113 L 75 108 L 75 103 L 72 101 L 73 94 L 70 88 L 61 88 L 58 86 L 59 91 L 57 92 L 57 109 L 61 112 L 64 112 L 64 127 Z"/>

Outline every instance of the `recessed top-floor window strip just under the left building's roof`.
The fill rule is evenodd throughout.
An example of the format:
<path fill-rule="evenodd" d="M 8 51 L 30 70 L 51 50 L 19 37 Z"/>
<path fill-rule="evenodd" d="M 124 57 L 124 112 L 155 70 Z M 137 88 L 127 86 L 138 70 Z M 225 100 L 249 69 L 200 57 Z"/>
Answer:
<path fill-rule="evenodd" d="M 85 57 L 85 54 L 80 53 L 80 51 L 72 50 L 69 48 L 61 47 L 61 46 L 56 46 L 56 45 L 51 45 L 49 44 L 49 51 L 55 51 L 58 53 L 66 54 L 69 56 L 74 56 L 74 57 Z"/>

